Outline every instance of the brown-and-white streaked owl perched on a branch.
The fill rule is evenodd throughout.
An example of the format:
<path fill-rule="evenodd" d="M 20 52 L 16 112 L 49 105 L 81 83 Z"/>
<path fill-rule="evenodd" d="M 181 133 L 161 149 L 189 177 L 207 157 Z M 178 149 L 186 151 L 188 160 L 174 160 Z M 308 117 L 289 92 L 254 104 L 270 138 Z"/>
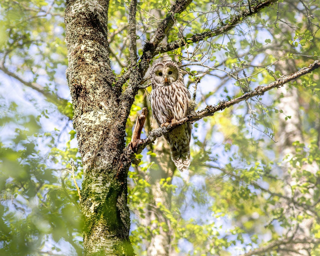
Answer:
<path fill-rule="evenodd" d="M 175 125 L 190 114 L 190 92 L 184 85 L 179 66 L 172 60 L 158 61 L 151 70 L 152 115 L 159 126 Z M 164 134 L 170 145 L 171 159 L 182 172 L 190 165 L 191 123 Z"/>

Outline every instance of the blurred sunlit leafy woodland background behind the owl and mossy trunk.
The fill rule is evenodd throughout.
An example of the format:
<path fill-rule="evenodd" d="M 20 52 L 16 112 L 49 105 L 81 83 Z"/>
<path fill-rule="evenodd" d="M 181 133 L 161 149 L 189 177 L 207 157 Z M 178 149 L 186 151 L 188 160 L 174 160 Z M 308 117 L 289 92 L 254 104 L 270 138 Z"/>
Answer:
<path fill-rule="evenodd" d="M 163 40 L 185 38 L 184 45 L 159 49 L 151 64 L 179 61 L 191 94 L 201 77 L 201 109 L 319 59 L 317 1 L 276 1 L 243 15 L 258 3 L 192 2 Z M 170 4 L 138 4 L 138 49 Z M 81 188 L 65 79 L 65 3 L 4 0 L 0 6 L 0 254 L 82 255 L 79 196 L 65 170 L 72 171 L 73 159 Z M 130 59 L 128 2 L 110 3 L 108 16 L 111 66 L 123 75 Z M 225 33 L 192 43 L 192 35 L 228 22 Z M 319 78 L 316 70 L 194 123 L 188 172 L 175 170 L 163 138 L 138 155 L 128 176 L 137 255 L 320 255 Z M 127 143 L 141 108 L 150 110 L 150 92 L 146 87 L 136 96 Z M 144 133 L 155 123 L 149 111 Z"/>

